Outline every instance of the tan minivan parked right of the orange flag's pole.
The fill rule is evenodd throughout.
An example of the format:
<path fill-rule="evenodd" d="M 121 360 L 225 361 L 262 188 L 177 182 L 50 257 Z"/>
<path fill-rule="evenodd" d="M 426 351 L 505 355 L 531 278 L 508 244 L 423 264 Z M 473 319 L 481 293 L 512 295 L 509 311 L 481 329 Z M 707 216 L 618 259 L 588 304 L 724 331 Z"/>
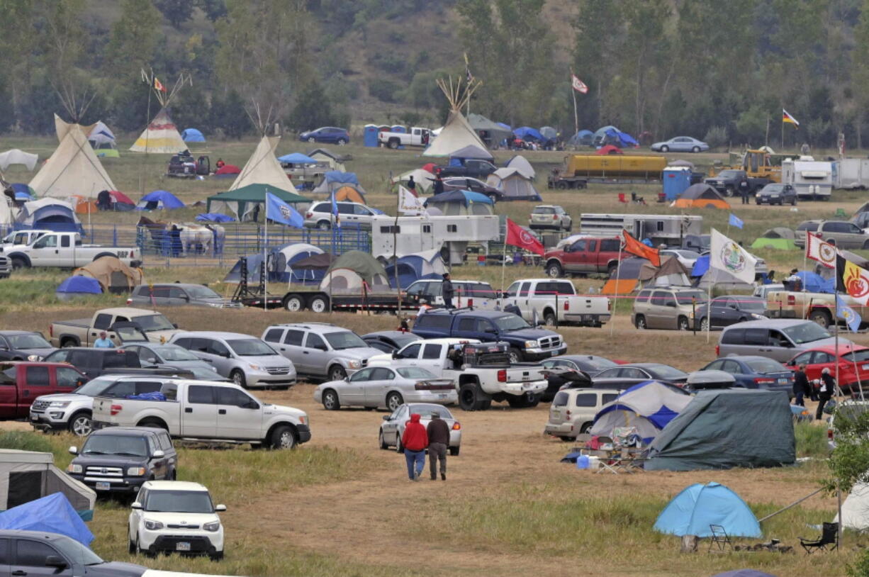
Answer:
<path fill-rule="evenodd" d="M 700 314 L 708 296 L 696 288 L 643 288 L 634 299 L 631 322 L 636 328 L 700 328 Z"/>

